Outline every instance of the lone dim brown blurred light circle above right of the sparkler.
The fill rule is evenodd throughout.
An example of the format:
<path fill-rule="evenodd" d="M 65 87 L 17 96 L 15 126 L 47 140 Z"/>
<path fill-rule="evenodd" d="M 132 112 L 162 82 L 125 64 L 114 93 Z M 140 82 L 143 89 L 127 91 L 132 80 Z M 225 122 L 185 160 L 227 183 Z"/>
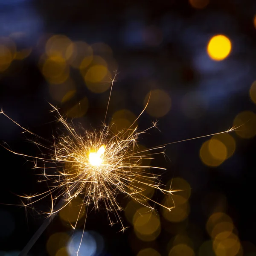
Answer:
<path fill-rule="evenodd" d="M 151 93 L 151 94 L 150 94 Z M 148 102 L 148 98 L 150 99 Z M 146 111 L 153 117 L 165 116 L 171 109 L 171 98 L 164 90 L 151 90 L 144 99 L 144 105 L 148 102 Z"/>

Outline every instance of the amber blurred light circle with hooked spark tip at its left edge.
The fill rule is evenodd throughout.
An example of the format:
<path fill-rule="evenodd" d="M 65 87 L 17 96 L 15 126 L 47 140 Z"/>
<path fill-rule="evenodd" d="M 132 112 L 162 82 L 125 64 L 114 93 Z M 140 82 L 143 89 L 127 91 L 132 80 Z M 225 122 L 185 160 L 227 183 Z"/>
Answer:
<path fill-rule="evenodd" d="M 166 207 L 175 207 L 171 210 L 162 208 L 163 217 L 171 222 L 180 222 L 184 221 L 189 215 L 189 204 L 186 201 L 186 198 L 183 198 L 181 195 L 175 195 L 173 198 L 167 197 L 163 205 Z"/>

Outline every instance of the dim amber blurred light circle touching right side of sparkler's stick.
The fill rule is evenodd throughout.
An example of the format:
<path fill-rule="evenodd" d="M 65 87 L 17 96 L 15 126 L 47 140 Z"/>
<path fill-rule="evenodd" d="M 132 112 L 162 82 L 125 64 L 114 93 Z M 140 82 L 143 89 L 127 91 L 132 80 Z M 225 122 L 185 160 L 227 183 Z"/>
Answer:
<path fill-rule="evenodd" d="M 79 196 L 73 198 L 70 204 L 59 211 L 60 218 L 69 223 L 79 221 L 85 214 L 85 207 L 82 204 L 83 201 Z"/>

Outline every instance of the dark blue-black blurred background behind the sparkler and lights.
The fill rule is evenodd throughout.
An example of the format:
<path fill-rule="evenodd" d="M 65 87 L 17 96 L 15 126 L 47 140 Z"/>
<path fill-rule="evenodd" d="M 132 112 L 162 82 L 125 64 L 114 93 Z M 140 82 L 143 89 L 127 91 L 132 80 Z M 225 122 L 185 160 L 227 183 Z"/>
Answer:
<path fill-rule="evenodd" d="M 77 86 L 74 99 L 66 105 L 52 99 L 49 83 L 38 65 L 44 52 L 40 40 L 62 34 L 72 41 L 102 42 L 111 47 L 119 73 L 107 122 L 119 109 L 140 114 L 145 95 L 151 89 L 163 89 L 169 94 L 172 107 L 158 118 L 161 132 L 153 131 L 151 136 L 141 139 L 148 147 L 225 131 L 233 126 L 239 112 L 255 111 L 249 96 L 256 79 L 255 14 L 253 0 L 210 0 L 203 9 L 194 8 L 186 0 L 0 0 L 0 35 L 8 37 L 22 32 L 15 39 L 17 49 L 32 49 L 27 58 L 13 60 L 0 73 L 0 106 L 20 125 L 51 140 L 59 123 L 50 113 L 48 102 L 65 113 L 66 106 L 86 96 L 89 109 L 74 122 L 85 123 L 85 129 L 101 125 L 109 90 L 90 92 L 78 72 L 72 73 Z M 223 61 L 213 61 L 207 55 L 207 43 L 216 34 L 224 34 L 232 42 L 232 52 Z M 184 114 L 182 108 L 187 93 L 201 93 L 203 99 L 198 105 L 194 102 L 188 107 L 192 112 L 194 108 L 202 112 L 195 118 Z M 140 129 L 147 128 L 154 119 L 144 113 L 139 120 Z M 0 140 L 16 152 L 37 155 L 38 149 L 27 141 L 32 137 L 21 132 L 0 115 Z M 256 255 L 252 245 L 256 243 L 255 138 L 243 139 L 235 132 L 231 135 L 236 140 L 236 151 L 218 167 L 205 166 L 200 160 L 199 150 L 206 138 L 168 145 L 166 154 L 170 161 L 157 158 L 154 165 L 167 168 L 163 183 L 172 177 L 189 182 L 192 195 L 188 223 L 201 230 L 201 243 L 210 239 L 205 230 L 207 218 L 214 206 L 224 200 L 225 211 L 233 219 L 240 241 L 251 243 L 248 252 L 244 246 L 243 255 L 251 256 Z M 0 255 L 17 255 L 44 219 L 32 209 L 25 211 L 17 206 L 20 199 L 16 195 L 38 191 L 37 178 L 32 163 L 0 148 L 0 250 L 3 251 Z M 161 201 L 161 195 L 156 195 L 156 200 Z M 47 203 L 42 200 L 36 208 L 44 209 Z M 45 244 L 52 230 L 69 232 L 57 217 L 30 255 L 47 255 Z M 168 255 L 167 244 L 176 235 L 162 230 L 154 242 L 140 241 L 132 227 L 124 233 L 118 232 L 118 225 L 110 227 L 104 209 L 89 215 L 86 230 L 96 230 L 103 237 L 102 255 L 109 256 L 137 255 L 145 247 L 154 247 L 161 255 Z M 197 236 L 189 225 L 187 232 L 192 240 Z M 194 243 L 195 255 L 199 247 L 200 244 Z"/>

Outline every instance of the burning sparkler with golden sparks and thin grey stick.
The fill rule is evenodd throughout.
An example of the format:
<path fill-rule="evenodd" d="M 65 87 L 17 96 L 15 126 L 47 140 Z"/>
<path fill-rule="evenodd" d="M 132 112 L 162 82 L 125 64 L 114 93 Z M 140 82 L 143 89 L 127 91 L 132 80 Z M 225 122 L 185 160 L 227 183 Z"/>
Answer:
<path fill-rule="evenodd" d="M 113 87 L 112 80 L 111 91 Z M 108 100 L 108 105 L 111 97 L 111 92 Z M 150 97 L 148 99 L 148 102 Z M 139 131 L 137 126 L 135 126 L 136 121 L 140 118 L 142 113 L 147 108 L 145 108 L 137 117 L 137 119 L 131 124 L 128 129 L 123 131 L 113 132 L 112 126 L 105 124 L 99 131 L 87 131 L 83 130 L 83 135 L 79 135 L 75 130 L 72 123 L 68 123 L 61 113 L 52 105 L 52 111 L 57 113 L 58 121 L 64 126 L 67 134 L 61 134 L 58 137 L 53 136 L 53 146 L 52 148 L 47 148 L 49 154 L 43 157 L 29 156 L 25 154 L 20 154 L 12 151 L 10 148 L 4 146 L 7 150 L 14 154 L 22 155 L 31 158 L 35 163 L 36 169 L 41 169 L 42 180 L 51 182 L 52 186 L 46 192 L 36 194 L 36 195 L 24 195 L 22 198 L 26 199 L 24 203 L 25 207 L 31 206 L 33 203 L 46 198 L 51 198 L 51 208 L 49 212 L 45 212 L 48 217 L 54 217 L 61 209 L 66 207 L 73 198 L 78 195 L 82 197 L 83 203 L 77 217 L 77 221 L 72 225 L 73 229 L 76 229 L 78 224 L 79 216 L 82 214 L 82 209 L 85 206 L 88 209 L 89 205 L 92 208 L 99 209 L 101 205 L 104 206 L 110 217 L 110 212 L 113 212 L 116 220 L 121 223 L 122 230 L 125 230 L 125 226 L 122 224 L 119 211 L 122 210 L 119 202 L 116 199 L 118 194 L 123 194 L 133 198 L 135 201 L 139 202 L 145 207 L 148 207 L 149 211 L 154 210 L 155 205 L 160 205 L 168 210 L 175 207 L 174 201 L 172 207 L 166 207 L 154 201 L 153 199 L 147 197 L 143 194 L 145 187 L 152 187 L 162 192 L 163 194 L 170 195 L 178 190 L 173 190 L 172 187 L 165 189 L 163 184 L 160 183 L 160 175 L 151 172 L 152 169 L 166 170 L 162 167 L 157 166 L 147 166 L 144 165 L 144 161 L 148 159 L 154 159 L 156 154 L 164 154 L 164 148 L 166 145 L 178 143 L 181 141 L 167 143 L 164 145 L 159 145 L 154 148 L 140 149 L 137 142 L 139 137 L 147 132 L 148 130 L 157 127 L 157 123 L 153 122 L 152 125 L 145 131 Z M 108 107 L 105 114 L 105 119 L 107 116 Z M 17 122 L 7 116 L 3 111 L 3 115 L 12 120 L 16 125 L 20 126 Z M 35 135 L 39 139 L 42 137 L 37 136 L 31 131 L 20 126 L 25 132 Z M 226 133 L 233 131 L 235 128 L 231 128 L 228 131 L 221 133 Z M 217 134 L 221 134 L 217 133 Z M 197 138 L 212 136 L 215 134 L 209 134 L 206 136 L 201 136 Z M 189 140 L 197 139 L 192 138 Z M 187 140 L 182 140 L 187 141 Z M 39 148 L 45 146 L 41 143 L 34 142 Z M 41 160 L 43 166 L 38 165 L 38 160 Z M 47 163 L 60 164 L 61 167 L 55 173 L 48 173 Z M 54 194 L 54 196 L 53 196 Z M 56 195 L 55 195 L 56 194 Z M 58 204 L 56 204 L 58 202 Z M 87 210 L 86 210 L 87 215 Z M 26 255 L 26 253 L 33 246 L 35 241 L 39 238 L 44 229 L 48 226 L 52 218 L 48 218 L 41 228 L 35 233 L 32 239 L 29 241 L 27 246 L 24 248 L 21 255 Z M 111 221 L 111 225 L 113 221 Z M 84 223 L 85 229 L 85 223 Z M 78 255 L 79 249 L 81 247 L 83 237 L 79 244 L 79 248 L 76 251 Z"/>

